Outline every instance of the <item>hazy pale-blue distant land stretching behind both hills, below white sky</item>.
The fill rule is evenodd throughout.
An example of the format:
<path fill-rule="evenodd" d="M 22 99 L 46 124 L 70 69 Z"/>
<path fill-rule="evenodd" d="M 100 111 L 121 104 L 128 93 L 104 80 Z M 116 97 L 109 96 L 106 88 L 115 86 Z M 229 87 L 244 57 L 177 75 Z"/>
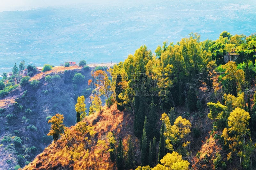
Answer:
<path fill-rule="evenodd" d="M 155 51 L 191 32 L 216 40 L 255 33 L 256 6 L 250 1 L 129 1 L 51 6 L 0 12 L 0 74 L 14 63 L 55 66 L 65 61 L 124 61 L 141 45 Z"/>

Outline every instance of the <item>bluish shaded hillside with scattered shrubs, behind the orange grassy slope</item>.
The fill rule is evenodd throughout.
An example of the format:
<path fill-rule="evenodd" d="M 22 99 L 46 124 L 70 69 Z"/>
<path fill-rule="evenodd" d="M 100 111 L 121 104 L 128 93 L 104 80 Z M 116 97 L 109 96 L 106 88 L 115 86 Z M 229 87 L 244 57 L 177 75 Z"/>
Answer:
<path fill-rule="evenodd" d="M 53 67 L 30 79 L 39 81 L 36 88 L 29 82 L 1 98 L 0 169 L 25 166 L 43 151 L 52 142 L 52 137 L 46 136 L 50 129 L 47 122 L 56 113 L 64 115 L 65 126 L 75 124 L 77 97 L 84 95 L 88 103 L 94 88 L 87 83 L 93 69 Z M 76 72 L 85 77 L 79 88 L 72 82 Z M 50 82 L 45 81 L 46 76 L 52 78 Z"/>

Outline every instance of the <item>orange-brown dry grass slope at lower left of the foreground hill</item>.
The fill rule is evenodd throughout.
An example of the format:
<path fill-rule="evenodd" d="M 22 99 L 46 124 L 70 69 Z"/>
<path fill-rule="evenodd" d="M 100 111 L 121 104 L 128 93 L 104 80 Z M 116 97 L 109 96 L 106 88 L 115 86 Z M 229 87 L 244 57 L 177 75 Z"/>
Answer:
<path fill-rule="evenodd" d="M 68 141 L 62 135 L 58 141 L 52 142 L 45 148 L 44 152 L 37 155 L 36 159 L 23 169 L 113 169 L 116 165 L 111 162 L 107 151 L 109 149 L 109 143 L 106 139 L 108 132 L 115 132 L 117 143 L 119 137 L 123 139 L 124 151 L 127 151 L 127 140 L 131 135 L 133 143 L 139 144 L 139 140 L 133 136 L 132 115 L 117 110 L 116 104 L 109 109 L 104 107 L 101 114 L 98 112 L 89 115 L 82 122 L 86 122 L 86 125 L 93 127 L 95 131 L 91 147 L 88 150 L 79 151 L 79 146 L 76 148 L 76 144 L 68 146 Z M 68 128 L 70 132 L 68 139 L 79 138 L 76 136 L 78 135 L 77 125 Z M 90 135 L 86 137 L 90 137 Z M 104 144 L 97 145 L 99 140 L 104 140 L 106 147 Z M 134 159 L 138 160 L 140 156 L 138 145 L 134 146 L 134 153 Z M 79 156 L 75 159 L 76 154 Z"/>

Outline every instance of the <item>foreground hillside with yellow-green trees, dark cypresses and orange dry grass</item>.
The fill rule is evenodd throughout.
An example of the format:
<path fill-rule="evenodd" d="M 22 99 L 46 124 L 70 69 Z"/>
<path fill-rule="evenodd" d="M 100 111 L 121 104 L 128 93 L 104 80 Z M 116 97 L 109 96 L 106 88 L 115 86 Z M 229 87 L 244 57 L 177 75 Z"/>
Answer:
<path fill-rule="evenodd" d="M 54 113 L 54 141 L 24 169 L 255 169 L 255 46 L 191 33 L 92 70 L 90 108 L 79 95 L 70 128 Z"/>

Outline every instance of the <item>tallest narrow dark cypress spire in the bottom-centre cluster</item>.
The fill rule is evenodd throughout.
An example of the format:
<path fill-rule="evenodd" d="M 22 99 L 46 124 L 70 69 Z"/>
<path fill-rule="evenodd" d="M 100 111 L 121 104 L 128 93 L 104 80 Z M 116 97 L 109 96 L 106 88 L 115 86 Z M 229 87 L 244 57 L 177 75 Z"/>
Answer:
<path fill-rule="evenodd" d="M 147 116 L 145 116 L 144 128 L 142 133 L 142 142 L 141 142 L 141 165 L 142 166 L 148 165 L 148 143 L 147 143 L 147 132 L 146 132 L 147 124 L 148 124 Z"/>

